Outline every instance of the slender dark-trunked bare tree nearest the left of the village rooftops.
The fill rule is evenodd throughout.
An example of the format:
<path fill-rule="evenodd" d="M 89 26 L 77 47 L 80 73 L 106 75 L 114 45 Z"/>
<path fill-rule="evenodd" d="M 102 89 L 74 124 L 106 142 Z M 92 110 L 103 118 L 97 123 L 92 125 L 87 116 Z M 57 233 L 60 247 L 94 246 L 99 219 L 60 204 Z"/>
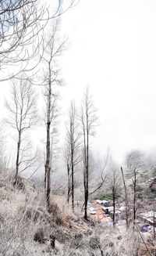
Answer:
<path fill-rule="evenodd" d="M 94 135 L 94 128 L 97 121 L 94 103 L 91 99 L 89 89 L 83 96 L 82 109 L 80 114 L 81 128 L 83 134 L 83 186 L 84 186 L 84 218 L 87 220 L 87 203 L 89 197 L 89 176 L 90 176 L 90 136 Z"/>

